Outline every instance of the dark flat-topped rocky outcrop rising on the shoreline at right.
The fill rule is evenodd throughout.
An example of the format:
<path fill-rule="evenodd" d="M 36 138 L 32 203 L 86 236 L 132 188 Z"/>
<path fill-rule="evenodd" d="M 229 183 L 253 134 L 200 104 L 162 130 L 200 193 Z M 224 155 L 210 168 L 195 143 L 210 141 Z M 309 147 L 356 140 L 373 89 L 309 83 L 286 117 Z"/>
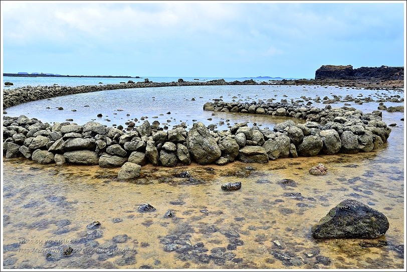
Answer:
<path fill-rule="evenodd" d="M 352 65 L 322 65 L 316 70 L 315 79 L 365 79 L 365 80 L 402 80 L 404 67 L 360 67 Z"/>

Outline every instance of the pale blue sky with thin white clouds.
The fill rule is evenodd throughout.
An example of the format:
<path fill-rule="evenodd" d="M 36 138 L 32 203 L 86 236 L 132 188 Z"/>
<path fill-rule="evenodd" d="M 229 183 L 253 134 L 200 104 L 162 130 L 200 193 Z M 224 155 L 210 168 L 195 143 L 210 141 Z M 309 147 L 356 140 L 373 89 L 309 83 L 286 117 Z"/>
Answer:
<path fill-rule="evenodd" d="M 3 72 L 313 78 L 403 66 L 401 3 L 1 3 Z"/>

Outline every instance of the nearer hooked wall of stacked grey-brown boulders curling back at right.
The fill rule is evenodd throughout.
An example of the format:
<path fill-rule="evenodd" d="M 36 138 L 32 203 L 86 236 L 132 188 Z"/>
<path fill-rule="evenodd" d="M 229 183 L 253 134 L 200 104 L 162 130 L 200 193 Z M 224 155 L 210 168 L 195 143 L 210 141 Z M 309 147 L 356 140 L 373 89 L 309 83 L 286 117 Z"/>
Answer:
<path fill-rule="evenodd" d="M 36 118 L 3 118 L 3 152 L 6 158 L 26 157 L 40 164 L 65 163 L 122 167 L 120 179 L 139 175 L 141 166 L 198 164 L 225 165 L 235 160 L 268 163 L 278 158 L 355 154 L 370 152 L 387 141 L 391 129 L 381 120 L 381 111 L 363 113 L 354 108 L 324 109 L 303 104 L 206 103 L 205 110 L 239 111 L 304 118 L 305 124 L 286 120 L 273 130 L 238 123 L 229 130 L 210 130 L 197 122 L 186 131 L 178 125 L 164 131 L 157 123 L 140 126 L 128 122 L 126 129 L 97 122 L 42 123 Z"/>

